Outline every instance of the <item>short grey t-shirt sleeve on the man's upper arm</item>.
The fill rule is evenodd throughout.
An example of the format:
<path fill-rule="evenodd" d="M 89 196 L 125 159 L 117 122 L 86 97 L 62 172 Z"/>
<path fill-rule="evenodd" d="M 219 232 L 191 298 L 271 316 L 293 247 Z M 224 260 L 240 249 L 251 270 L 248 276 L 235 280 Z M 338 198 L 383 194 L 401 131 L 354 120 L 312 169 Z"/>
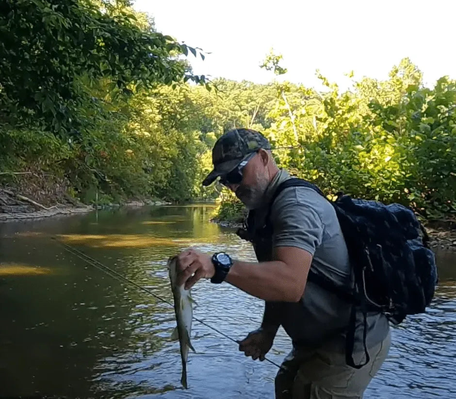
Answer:
<path fill-rule="evenodd" d="M 297 247 L 313 255 L 322 242 L 324 230 L 318 212 L 310 204 L 297 200 L 277 205 L 271 213 L 273 247 Z"/>

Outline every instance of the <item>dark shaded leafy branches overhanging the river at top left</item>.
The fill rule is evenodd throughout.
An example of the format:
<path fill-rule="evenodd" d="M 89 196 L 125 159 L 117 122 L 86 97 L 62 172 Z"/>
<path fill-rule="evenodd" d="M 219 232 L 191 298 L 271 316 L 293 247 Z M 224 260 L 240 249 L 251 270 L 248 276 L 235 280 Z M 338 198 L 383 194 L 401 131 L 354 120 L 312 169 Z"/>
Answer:
<path fill-rule="evenodd" d="M 196 50 L 154 32 L 127 1 L 4 0 L 0 16 L 0 121 L 40 122 L 79 137 L 90 120 L 78 113 L 87 86 L 107 78 L 129 96 L 142 87 L 204 77 L 188 73 L 179 54 Z"/>

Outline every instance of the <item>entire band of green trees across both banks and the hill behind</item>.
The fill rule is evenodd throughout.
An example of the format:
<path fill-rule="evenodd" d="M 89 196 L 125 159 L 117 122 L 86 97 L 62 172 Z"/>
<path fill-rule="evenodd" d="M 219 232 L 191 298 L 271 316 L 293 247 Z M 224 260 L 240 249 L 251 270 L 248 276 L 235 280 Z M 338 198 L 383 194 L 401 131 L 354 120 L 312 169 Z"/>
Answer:
<path fill-rule="evenodd" d="M 155 32 L 128 0 L 4 0 L 2 10 L 3 184 L 52 176 L 42 185 L 99 204 L 217 199 L 219 217 L 239 221 L 242 203 L 201 182 L 217 138 L 248 127 L 268 136 L 280 167 L 329 194 L 400 202 L 428 218 L 456 213 L 456 82 L 423 87 L 408 59 L 388 80 L 342 93 L 318 71 L 322 92 L 209 85 L 183 59 L 199 49 Z M 261 67 L 283 75 L 281 61 L 271 51 Z"/>

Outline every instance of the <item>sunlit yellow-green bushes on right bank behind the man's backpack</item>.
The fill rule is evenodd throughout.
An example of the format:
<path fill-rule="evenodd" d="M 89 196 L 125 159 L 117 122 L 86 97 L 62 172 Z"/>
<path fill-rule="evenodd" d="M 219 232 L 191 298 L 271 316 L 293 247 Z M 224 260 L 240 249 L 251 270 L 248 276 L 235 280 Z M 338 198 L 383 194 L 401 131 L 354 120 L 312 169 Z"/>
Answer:
<path fill-rule="evenodd" d="M 328 91 L 282 85 L 287 100 L 278 96 L 265 131 L 276 147 L 293 147 L 275 151 L 279 166 L 330 194 L 399 202 L 425 217 L 456 212 L 455 81 L 425 88 L 408 59 L 388 81 L 365 78 L 342 94 L 319 78 Z"/>

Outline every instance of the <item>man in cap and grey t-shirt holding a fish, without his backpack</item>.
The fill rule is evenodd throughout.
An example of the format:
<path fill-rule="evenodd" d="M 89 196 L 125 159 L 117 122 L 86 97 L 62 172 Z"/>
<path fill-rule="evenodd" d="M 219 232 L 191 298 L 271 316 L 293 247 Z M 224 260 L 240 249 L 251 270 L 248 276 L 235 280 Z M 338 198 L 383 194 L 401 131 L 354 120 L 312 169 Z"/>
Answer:
<path fill-rule="evenodd" d="M 259 132 L 235 129 L 223 134 L 212 150 L 212 163 L 214 169 L 203 185 L 220 178 L 255 212 L 251 240 L 258 263 L 232 260 L 226 253 L 211 257 L 188 249 L 179 254 L 181 281 L 186 281 L 187 289 L 201 278 L 212 283 L 225 281 L 265 300 L 261 327 L 249 333 L 239 349 L 254 360 L 264 360 L 280 325 L 291 337 L 293 350 L 276 376 L 276 398 L 362 398 L 387 356 L 390 329 L 385 315 L 369 312 L 366 344 L 370 361 L 361 368 L 346 364 L 351 306 L 336 293 L 308 281 L 312 266 L 341 286 L 353 284 L 333 207 L 309 187 L 285 188 L 270 203 L 277 186 L 290 175 L 277 168 L 270 144 Z M 272 229 L 265 233 L 261 227 L 268 223 Z M 355 364 L 366 361 L 362 327 L 359 314 Z"/>

